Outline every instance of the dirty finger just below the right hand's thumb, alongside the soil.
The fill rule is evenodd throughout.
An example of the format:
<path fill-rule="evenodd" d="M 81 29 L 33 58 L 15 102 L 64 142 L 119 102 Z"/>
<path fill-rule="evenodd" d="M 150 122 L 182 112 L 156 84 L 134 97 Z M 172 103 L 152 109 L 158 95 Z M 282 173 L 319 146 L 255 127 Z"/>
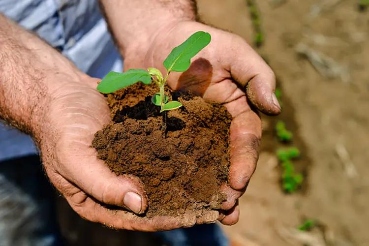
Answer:
<path fill-rule="evenodd" d="M 242 190 L 254 173 L 259 158 L 261 120 L 248 107 L 246 96 L 225 106 L 234 117 L 230 126 L 231 166 L 228 181 L 233 189 Z"/>

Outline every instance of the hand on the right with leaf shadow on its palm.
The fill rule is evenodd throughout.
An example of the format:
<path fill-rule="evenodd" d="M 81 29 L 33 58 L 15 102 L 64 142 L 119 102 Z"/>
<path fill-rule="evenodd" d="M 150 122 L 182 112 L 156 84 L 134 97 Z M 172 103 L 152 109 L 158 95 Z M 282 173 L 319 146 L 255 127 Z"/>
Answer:
<path fill-rule="evenodd" d="M 196 31 L 209 32 L 212 41 L 192 59 L 187 71 L 172 72 L 168 85 L 223 103 L 232 115 L 231 167 L 228 184 L 223 185 L 228 199 L 219 217 L 230 225 L 238 221 L 238 198 L 245 192 L 259 156 L 261 120 L 257 110 L 267 115 L 280 113 L 272 69 L 240 36 L 185 21 L 159 29 L 144 47 L 127 49 L 124 70 L 156 67 L 166 74 L 162 64 L 165 58 Z"/>

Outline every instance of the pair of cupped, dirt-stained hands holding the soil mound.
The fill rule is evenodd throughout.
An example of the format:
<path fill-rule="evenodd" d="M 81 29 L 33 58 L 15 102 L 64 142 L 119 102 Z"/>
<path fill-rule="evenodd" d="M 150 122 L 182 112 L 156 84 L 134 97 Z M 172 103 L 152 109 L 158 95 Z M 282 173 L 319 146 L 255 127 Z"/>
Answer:
<path fill-rule="evenodd" d="M 280 112 L 274 94 L 274 73 L 235 34 L 197 22 L 180 22 L 160 31 L 147 47 L 126 52 L 124 70 L 157 67 L 165 71 L 162 65 L 165 57 L 192 33 L 207 31 L 212 35 L 212 42 L 193 58 L 186 72 L 171 73 L 168 85 L 222 103 L 233 117 L 229 180 L 222 185 L 227 201 L 222 204 L 223 212 L 218 219 L 223 224 L 234 224 L 240 213 L 238 198 L 245 192 L 258 160 L 261 120 L 257 111 L 268 115 Z M 90 147 L 94 133 L 110 122 L 106 100 L 96 90 L 98 81 L 81 75 L 78 81 L 69 81 L 55 92 L 45 116 L 49 127 L 40 138 L 50 181 L 79 215 L 117 229 L 158 231 L 202 223 L 190 212 L 181 217 L 151 219 L 135 215 L 143 213 L 148 206 L 142 183 L 135 177 L 113 174 Z"/>

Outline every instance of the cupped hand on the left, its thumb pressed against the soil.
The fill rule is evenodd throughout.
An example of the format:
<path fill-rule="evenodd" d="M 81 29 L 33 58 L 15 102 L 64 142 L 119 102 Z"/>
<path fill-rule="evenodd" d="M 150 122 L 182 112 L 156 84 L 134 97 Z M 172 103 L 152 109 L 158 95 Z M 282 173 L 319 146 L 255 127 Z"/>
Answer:
<path fill-rule="evenodd" d="M 97 158 L 91 147 L 94 133 L 110 122 L 108 104 L 96 91 L 98 81 L 81 75 L 78 81 L 62 83 L 46 107 L 43 131 L 36 137 L 51 183 L 80 216 L 116 229 L 159 231 L 200 223 L 191 213 L 153 219 L 139 216 L 148 204 L 141 182 L 116 176 Z M 209 213 L 202 219 L 216 218 Z"/>

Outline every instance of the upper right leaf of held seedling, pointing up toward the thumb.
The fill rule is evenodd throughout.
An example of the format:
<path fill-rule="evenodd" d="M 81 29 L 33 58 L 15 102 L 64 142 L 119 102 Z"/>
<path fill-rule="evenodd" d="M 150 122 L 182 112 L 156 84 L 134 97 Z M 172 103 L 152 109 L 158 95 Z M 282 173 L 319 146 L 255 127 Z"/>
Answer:
<path fill-rule="evenodd" d="M 211 41 L 208 32 L 198 31 L 193 33 L 184 43 L 172 50 L 163 62 L 168 73 L 171 71 L 184 72 L 191 64 L 191 58 L 196 56 Z"/>

